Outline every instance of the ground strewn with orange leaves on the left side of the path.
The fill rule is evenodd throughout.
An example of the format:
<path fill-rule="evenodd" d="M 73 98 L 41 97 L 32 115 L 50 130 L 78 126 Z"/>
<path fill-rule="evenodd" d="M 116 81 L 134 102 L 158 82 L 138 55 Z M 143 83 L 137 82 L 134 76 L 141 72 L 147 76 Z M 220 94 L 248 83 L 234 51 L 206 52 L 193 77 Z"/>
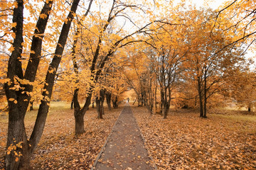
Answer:
<path fill-rule="evenodd" d="M 85 133 L 74 136 L 75 120 L 69 105 L 53 107 L 48 113 L 46 128 L 40 145 L 31 161 L 33 169 L 90 169 L 97 154 L 110 134 L 123 107 L 107 111 L 104 120 L 97 119 L 96 109 L 90 108 L 85 114 Z M 6 145 L 7 115 L 0 115 L 0 169 L 4 168 L 4 148 Z M 36 111 L 26 115 L 26 128 L 31 132 Z"/>

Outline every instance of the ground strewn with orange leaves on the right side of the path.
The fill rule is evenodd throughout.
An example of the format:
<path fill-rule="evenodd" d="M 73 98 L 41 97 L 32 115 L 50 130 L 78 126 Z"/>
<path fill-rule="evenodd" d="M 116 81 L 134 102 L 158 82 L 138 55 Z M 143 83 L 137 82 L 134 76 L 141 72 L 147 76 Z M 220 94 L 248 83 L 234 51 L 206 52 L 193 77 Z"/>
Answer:
<path fill-rule="evenodd" d="M 158 169 L 256 169 L 255 116 L 132 109 Z"/>

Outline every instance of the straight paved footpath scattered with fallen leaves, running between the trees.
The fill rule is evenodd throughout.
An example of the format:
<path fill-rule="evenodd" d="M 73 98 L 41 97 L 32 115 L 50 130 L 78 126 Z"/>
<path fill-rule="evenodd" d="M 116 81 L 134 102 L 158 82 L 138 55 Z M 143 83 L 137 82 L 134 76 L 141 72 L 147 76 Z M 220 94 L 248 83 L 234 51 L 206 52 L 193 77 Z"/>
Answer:
<path fill-rule="evenodd" d="M 92 169 L 154 169 L 129 104 L 124 106 Z"/>

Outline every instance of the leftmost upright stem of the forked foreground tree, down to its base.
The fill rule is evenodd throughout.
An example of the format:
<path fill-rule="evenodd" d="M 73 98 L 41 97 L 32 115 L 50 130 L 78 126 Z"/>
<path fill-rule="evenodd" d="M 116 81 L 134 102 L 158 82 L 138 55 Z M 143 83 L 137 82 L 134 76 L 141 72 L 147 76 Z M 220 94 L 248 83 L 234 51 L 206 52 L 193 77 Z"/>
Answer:
<path fill-rule="evenodd" d="M 24 111 L 20 111 L 18 105 L 20 103 L 14 103 L 10 101 L 10 98 L 14 98 L 18 101 L 18 94 L 16 91 L 11 90 L 10 88 L 14 87 L 14 77 L 19 74 L 18 72 L 18 58 L 21 58 L 22 53 L 22 42 L 23 42 L 23 1 L 16 1 L 17 8 L 14 8 L 13 23 L 16 23 L 16 27 L 12 28 L 16 38 L 14 39 L 14 51 L 11 53 L 8 63 L 8 72 L 7 77 L 11 80 L 11 84 L 4 84 L 4 89 L 6 91 L 6 98 L 9 106 L 9 123 L 8 123 L 8 135 L 7 135 L 7 149 L 10 145 L 16 145 L 17 143 L 23 142 L 23 132 L 24 132 Z M 16 69 L 17 68 L 17 69 Z M 23 75 L 20 75 L 21 78 Z M 22 113 L 21 113 L 22 112 Z M 26 112 L 25 112 L 26 113 Z M 16 152 L 22 152 L 20 147 L 17 148 Z M 21 162 L 15 161 L 16 157 L 14 150 L 11 150 L 10 154 L 6 154 L 5 166 L 6 170 L 18 169 Z"/>

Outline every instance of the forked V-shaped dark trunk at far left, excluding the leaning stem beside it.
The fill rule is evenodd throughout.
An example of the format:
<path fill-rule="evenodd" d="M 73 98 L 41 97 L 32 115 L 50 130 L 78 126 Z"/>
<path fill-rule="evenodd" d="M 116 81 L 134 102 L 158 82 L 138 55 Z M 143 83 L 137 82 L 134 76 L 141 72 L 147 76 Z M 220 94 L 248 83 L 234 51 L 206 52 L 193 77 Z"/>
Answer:
<path fill-rule="evenodd" d="M 46 18 L 38 18 L 36 23 L 36 30 L 34 32 L 32 44 L 31 44 L 31 55 L 30 60 L 28 60 L 28 65 L 26 67 L 25 74 L 23 76 L 23 71 L 21 67 L 22 54 L 22 42 L 23 42 L 23 1 L 17 0 L 17 7 L 14 8 L 13 23 L 16 23 L 16 27 L 12 28 L 15 33 L 14 38 L 14 51 L 11 53 L 8 64 L 7 78 L 10 82 L 4 85 L 6 91 L 6 98 L 9 102 L 9 125 L 8 125 L 8 135 L 7 135 L 7 149 L 10 145 L 21 145 L 22 147 L 17 147 L 16 150 L 11 150 L 11 152 L 6 153 L 5 168 L 6 170 L 15 169 L 29 169 L 29 162 L 31 154 L 33 153 L 33 147 L 35 147 L 33 142 L 31 147 L 28 147 L 28 140 L 26 135 L 26 130 L 24 127 L 24 117 L 26 115 L 26 110 L 28 108 L 31 96 L 27 96 L 23 91 L 31 92 L 33 86 L 29 84 L 21 84 L 24 90 L 15 91 L 10 89 L 14 86 L 14 77 L 19 79 L 26 79 L 33 82 L 36 77 L 36 71 L 38 69 L 39 57 L 41 56 L 41 45 L 42 36 L 46 29 L 46 23 L 48 22 L 48 16 L 51 10 L 53 1 L 49 1 L 48 4 L 45 3 L 41 13 L 46 14 Z M 14 98 L 14 101 L 9 101 L 10 98 Z M 15 140 L 14 140 L 15 139 Z M 21 152 L 22 157 L 19 157 L 16 161 L 15 152 Z M 8 154 L 9 153 L 9 154 Z"/>

